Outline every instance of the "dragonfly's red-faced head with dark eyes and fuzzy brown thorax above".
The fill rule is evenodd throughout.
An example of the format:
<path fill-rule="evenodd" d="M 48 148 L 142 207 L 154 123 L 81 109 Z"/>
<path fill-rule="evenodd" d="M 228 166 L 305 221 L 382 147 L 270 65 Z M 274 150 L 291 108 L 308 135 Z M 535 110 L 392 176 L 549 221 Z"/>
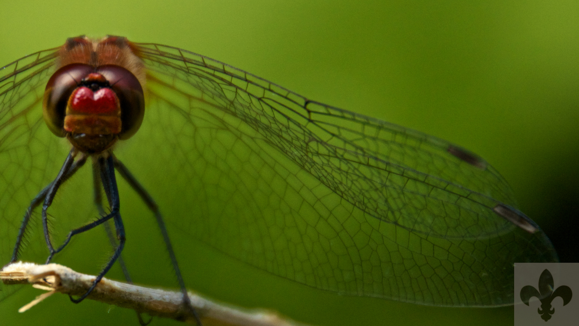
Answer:
<path fill-rule="evenodd" d="M 144 84 L 142 61 L 125 38 L 68 39 L 46 85 L 46 124 L 83 153 L 101 153 L 141 126 Z"/>

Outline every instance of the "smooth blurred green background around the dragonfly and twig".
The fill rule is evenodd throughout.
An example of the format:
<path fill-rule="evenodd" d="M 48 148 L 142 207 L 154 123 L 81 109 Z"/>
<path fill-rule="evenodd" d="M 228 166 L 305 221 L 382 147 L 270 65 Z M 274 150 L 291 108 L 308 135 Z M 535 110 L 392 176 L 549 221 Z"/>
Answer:
<path fill-rule="evenodd" d="M 1 66 L 67 37 L 124 35 L 201 53 L 310 99 L 460 144 L 510 182 L 563 262 L 579 261 L 576 1 L 3 1 L 0 18 Z M 137 200 L 125 198 L 125 209 Z M 126 222 L 139 231 L 127 240 L 127 256 L 143 274 L 152 267 L 140 260 L 164 255 L 158 237 L 147 240 L 152 225 Z M 194 270 L 187 274 L 192 289 L 303 323 L 512 324 L 512 307 L 450 309 L 318 291 L 175 237 L 184 269 Z M 67 259 L 85 271 L 83 262 L 94 260 L 85 255 Z M 133 311 L 56 295 L 16 312 L 39 293 L 24 289 L 0 302 L 0 324 L 138 324 Z M 178 323 L 152 323 L 166 324 Z"/>

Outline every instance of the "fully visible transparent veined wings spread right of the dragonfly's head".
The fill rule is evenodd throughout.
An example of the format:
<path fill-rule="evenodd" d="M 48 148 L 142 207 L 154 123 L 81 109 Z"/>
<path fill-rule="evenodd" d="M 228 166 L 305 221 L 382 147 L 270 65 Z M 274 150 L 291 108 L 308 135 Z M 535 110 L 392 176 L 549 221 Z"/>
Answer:
<path fill-rule="evenodd" d="M 313 102 L 185 50 L 140 44 L 148 108 L 125 148 L 167 219 L 312 287 L 428 305 L 513 302 L 514 262 L 556 261 L 492 166 L 444 140 Z M 148 154 L 147 154 L 148 153 Z M 168 181 L 167 181 L 168 180 Z"/>

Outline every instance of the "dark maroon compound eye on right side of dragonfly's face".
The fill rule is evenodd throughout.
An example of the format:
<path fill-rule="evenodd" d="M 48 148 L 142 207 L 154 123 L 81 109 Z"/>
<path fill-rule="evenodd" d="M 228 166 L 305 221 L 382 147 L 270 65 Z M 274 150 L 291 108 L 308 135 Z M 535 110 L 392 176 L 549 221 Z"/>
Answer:
<path fill-rule="evenodd" d="M 137 77 L 123 67 L 105 64 L 96 72 L 103 75 L 120 102 L 122 128 L 119 139 L 129 139 L 138 131 L 145 114 L 145 97 Z"/>

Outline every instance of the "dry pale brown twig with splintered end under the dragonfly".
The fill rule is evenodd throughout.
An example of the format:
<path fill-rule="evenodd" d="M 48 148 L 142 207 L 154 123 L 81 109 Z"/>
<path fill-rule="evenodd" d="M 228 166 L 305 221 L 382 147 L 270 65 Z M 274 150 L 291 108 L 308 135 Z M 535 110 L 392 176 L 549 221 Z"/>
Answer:
<path fill-rule="evenodd" d="M 47 296 L 56 292 L 69 295 L 81 295 L 89 289 L 95 276 L 78 273 L 58 264 L 36 265 L 34 263 L 12 263 L 0 271 L 4 284 L 32 284 L 35 288 L 44 289 L 20 312 L 30 309 Z M 129 308 L 138 313 L 151 316 L 172 318 L 189 324 L 196 324 L 195 317 L 184 309 L 181 292 L 163 289 L 146 288 L 102 278 L 97 287 L 87 297 L 119 307 Z M 193 308 L 199 314 L 204 326 L 297 326 L 298 324 L 280 318 L 267 311 L 248 311 L 222 303 L 213 302 L 189 292 Z"/>

